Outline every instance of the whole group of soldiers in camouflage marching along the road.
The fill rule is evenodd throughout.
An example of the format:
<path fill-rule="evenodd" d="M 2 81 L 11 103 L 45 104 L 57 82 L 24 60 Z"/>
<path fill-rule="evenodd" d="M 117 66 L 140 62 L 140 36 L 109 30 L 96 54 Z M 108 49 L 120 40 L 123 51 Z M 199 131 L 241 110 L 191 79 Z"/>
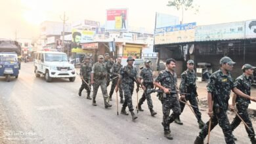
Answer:
<path fill-rule="evenodd" d="M 172 58 L 166 61 L 167 69 L 161 71 L 155 80 L 153 80 L 149 60 L 144 62 L 144 67 L 139 74 L 137 69 L 133 67 L 135 60 L 132 57 L 127 58 L 127 65 L 124 67 L 121 65 L 121 58 L 117 58 L 117 62 L 114 63 L 113 60 L 110 60 L 108 53 L 104 56 L 98 56 L 98 62 L 93 65 L 90 63 L 90 58 L 86 56 L 84 63 L 81 65 L 80 76 L 82 84 L 79 89 L 79 96 L 81 96 L 82 90 L 86 89 L 87 99 L 92 99 L 90 93 L 91 85 L 93 85 L 93 105 L 96 106 L 96 94 L 99 86 L 102 90 L 105 108 L 112 107 L 109 101 L 112 100 L 114 90 L 116 92 L 119 90 L 120 103 L 123 103 L 121 114 L 129 115 L 125 110 L 128 107 L 132 120 L 135 120 L 138 117 L 134 113 L 132 95 L 134 85 L 137 84 L 137 94 L 139 88 L 144 90 L 142 97 L 139 100 L 137 99 L 137 111 L 144 111 L 141 105 L 147 100 L 150 114 L 152 116 L 156 115 L 156 111 L 153 110 L 150 93 L 158 92 L 157 96 L 162 103 L 163 111 L 163 121 L 161 124 L 163 126 L 164 136 L 167 139 L 173 139 L 169 128 L 170 124 L 172 122 L 182 124 L 179 116 L 184 106 L 188 105 L 198 120 L 199 128 L 202 129 L 194 141 L 195 144 L 203 143 L 207 135 L 207 142 L 209 143 L 209 134 L 217 124 L 223 129 L 226 143 L 235 143 L 236 137 L 232 135 L 232 131 L 234 131 L 240 122 L 244 123 L 251 143 L 256 143 L 255 132 L 247 113 L 250 101 L 256 101 L 255 98 L 250 96 L 251 76 L 253 75 L 253 69 L 255 69 L 252 65 L 245 64 L 242 67 L 243 74 L 233 81 L 230 71 L 232 71 L 235 62 L 226 56 L 221 58 L 221 68 L 210 76 L 207 84 L 208 115 L 210 119 L 205 124 L 201 118 L 202 114 L 198 109 L 196 73 L 194 71 L 193 60 L 187 61 L 187 69 L 181 74 L 181 84 L 178 88 L 177 74 L 175 73 L 176 62 Z M 112 85 L 110 94 L 108 95 L 107 86 L 110 84 L 110 81 L 112 81 Z M 158 87 L 159 90 L 154 90 L 154 86 L 155 88 Z M 232 104 L 228 105 L 230 90 L 234 92 L 234 96 L 232 97 Z M 190 104 L 188 104 L 188 101 Z M 228 108 L 236 113 L 236 117 L 231 124 L 226 114 Z M 170 115 L 171 110 L 173 113 Z"/>

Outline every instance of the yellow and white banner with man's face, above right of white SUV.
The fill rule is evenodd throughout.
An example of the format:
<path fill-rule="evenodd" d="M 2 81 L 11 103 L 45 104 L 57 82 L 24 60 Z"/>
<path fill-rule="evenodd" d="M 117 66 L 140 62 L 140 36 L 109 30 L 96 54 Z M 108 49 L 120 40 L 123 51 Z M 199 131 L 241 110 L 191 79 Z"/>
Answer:
<path fill-rule="evenodd" d="M 93 42 L 95 31 L 72 29 L 72 52 L 85 52 L 80 43 Z"/>

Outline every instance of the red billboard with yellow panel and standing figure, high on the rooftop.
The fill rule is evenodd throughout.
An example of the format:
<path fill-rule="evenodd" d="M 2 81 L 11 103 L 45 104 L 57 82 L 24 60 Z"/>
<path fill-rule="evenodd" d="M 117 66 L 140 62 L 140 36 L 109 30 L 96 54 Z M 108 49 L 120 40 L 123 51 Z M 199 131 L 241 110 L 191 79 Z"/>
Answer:
<path fill-rule="evenodd" d="M 106 31 L 127 31 L 127 9 L 106 10 Z"/>

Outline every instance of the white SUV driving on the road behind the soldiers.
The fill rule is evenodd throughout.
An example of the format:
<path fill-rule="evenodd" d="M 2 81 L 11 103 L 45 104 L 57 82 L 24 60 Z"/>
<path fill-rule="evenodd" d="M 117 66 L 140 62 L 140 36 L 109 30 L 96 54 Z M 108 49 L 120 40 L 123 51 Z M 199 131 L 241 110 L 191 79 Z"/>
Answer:
<path fill-rule="evenodd" d="M 35 77 L 44 75 L 47 82 L 51 82 L 53 78 L 75 81 L 75 67 L 68 63 L 68 57 L 64 52 L 35 52 L 34 66 Z"/>

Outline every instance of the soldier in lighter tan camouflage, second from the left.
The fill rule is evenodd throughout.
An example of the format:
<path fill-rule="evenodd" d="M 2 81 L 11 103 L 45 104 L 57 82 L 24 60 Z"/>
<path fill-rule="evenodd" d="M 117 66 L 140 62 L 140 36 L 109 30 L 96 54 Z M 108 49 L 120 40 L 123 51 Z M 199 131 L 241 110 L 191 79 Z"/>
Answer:
<path fill-rule="evenodd" d="M 103 58 L 104 57 L 102 55 L 98 56 L 98 62 L 93 65 L 93 70 L 91 71 L 91 84 L 93 84 L 93 105 L 96 106 L 96 94 L 98 92 L 98 88 L 100 87 L 104 98 L 105 108 L 108 108 L 112 107 L 112 105 L 106 101 L 106 99 L 108 99 L 108 92 L 106 88 L 107 70 L 105 63 L 103 63 Z"/>

